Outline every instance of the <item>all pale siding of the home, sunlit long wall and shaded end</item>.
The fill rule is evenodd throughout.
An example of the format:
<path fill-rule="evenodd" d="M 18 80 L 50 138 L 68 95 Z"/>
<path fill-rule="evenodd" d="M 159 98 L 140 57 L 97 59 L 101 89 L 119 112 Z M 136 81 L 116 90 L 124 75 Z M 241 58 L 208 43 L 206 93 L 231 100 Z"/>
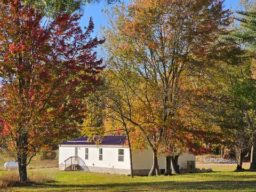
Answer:
<path fill-rule="evenodd" d="M 85 166 L 130 169 L 129 148 L 122 146 L 62 145 L 59 147 L 59 164 L 64 164 L 67 158 L 75 156 L 75 147 L 78 147 L 78 157 L 82 159 Z M 85 159 L 85 148 L 89 150 L 89 159 Z M 99 148 L 103 149 L 103 161 L 99 160 Z M 124 162 L 118 162 L 118 149 L 124 149 Z M 150 149 L 136 150 L 132 154 L 132 159 L 134 170 L 149 170 L 153 164 L 153 153 Z M 180 168 L 187 169 L 187 161 L 196 161 L 196 157 L 190 154 L 181 155 L 178 160 Z M 164 169 L 165 158 L 163 156 L 158 157 L 158 165 L 159 169 Z"/>

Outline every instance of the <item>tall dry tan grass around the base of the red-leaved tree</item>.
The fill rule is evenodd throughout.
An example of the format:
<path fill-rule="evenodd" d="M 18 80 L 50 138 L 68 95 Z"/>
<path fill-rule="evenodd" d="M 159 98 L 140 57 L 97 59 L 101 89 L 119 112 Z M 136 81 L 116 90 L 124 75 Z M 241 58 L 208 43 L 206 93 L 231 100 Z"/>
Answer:
<path fill-rule="evenodd" d="M 28 173 L 29 183 L 49 183 L 55 180 L 49 174 L 42 174 L 38 171 L 32 171 Z M 0 174 L 0 187 L 12 187 L 19 185 L 19 173 L 18 171 L 4 171 Z"/>

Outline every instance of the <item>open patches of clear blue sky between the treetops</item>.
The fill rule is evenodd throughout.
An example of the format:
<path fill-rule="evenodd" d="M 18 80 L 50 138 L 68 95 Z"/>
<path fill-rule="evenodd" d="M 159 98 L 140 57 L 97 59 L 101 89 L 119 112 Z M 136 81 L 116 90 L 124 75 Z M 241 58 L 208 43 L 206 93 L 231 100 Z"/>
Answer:
<path fill-rule="evenodd" d="M 126 0 L 127 1 L 127 0 Z M 230 5 L 232 6 L 233 10 L 237 9 L 239 0 L 226 0 L 225 1 L 225 7 L 227 9 L 230 8 Z M 94 4 L 94 5 L 87 5 L 84 9 L 84 16 L 82 17 L 80 24 L 82 27 L 87 26 L 89 22 L 89 18 L 93 18 L 94 22 L 94 33 L 93 35 L 96 35 L 100 29 L 100 26 L 106 26 L 107 22 L 105 18 L 103 17 L 103 14 L 101 12 L 102 9 L 109 9 L 110 5 L 106 5 L 104 0 L 100 4 Z"/>

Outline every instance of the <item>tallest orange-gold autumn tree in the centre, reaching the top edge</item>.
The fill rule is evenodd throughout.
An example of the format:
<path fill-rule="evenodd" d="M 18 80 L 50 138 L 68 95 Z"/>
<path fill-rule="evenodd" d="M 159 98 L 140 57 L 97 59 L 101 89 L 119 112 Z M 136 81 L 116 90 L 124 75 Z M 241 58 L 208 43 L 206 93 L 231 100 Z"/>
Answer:
<path fill-rule="evenodd" d="M 124 118 L 139 127 L 153 150 L 149 175 L 159 174 L 157 145 L 172 129 L 168 119 L 184 107 L 181 86 L 229 50 L 219 41 L 228 33 L 229 11 L 222 1 L 138 0 L 115 7 L 108 18 L 107 65 L 140 106 L 131 110 L 137 115 Z M 120 68 L 138 74 L 138 84 L 131 85 Z"/>

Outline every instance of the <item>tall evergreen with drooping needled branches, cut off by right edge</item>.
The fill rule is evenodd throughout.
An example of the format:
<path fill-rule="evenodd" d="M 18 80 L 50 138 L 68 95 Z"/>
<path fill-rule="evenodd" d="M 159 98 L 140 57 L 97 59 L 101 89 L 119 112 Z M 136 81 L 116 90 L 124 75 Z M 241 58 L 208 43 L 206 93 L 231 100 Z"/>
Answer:
<path fill-rule="evenodd" d="M 236 20 L 238 21 L 239 26 L 235 29 L 234 33 L 231 36 L 226 37 L 228 41 L 233 41 L 241 45 L 241 47 L 246 51 L 244 58 L 247 58 L 246 61 L 250 67 L 248 70 L 250 71 L 250 76 L 244 76 L 244 81 L 249 81 L 247 78 L 251 78 L 251 82 L 254 83 L 255 79 L 255 55 L 256 55 L 256 11 L 255 11 L 255 2 L 243 2 L 245 10 L 247 11 L 238 11 Z M 256 89 L 255 84 L 251 86 Z M 241 87 L 242 89 L 242 87 Z M 244 90 L 245 93 L 248 93 Z M 248 103 L 255 102 L 255 100 L 250 100 L 250 94 L 253 94 L 254 91 L 251 89 L 251 92 L 245 96 L 248 101 L 244 102 L 245 106 Z M 256 120 L 255 116 L 255 106 L 251 106 L 251 111 L 247 111 L 248 122 L 250 125 L 250 133 L 251 139 L 253 140 L 253 145 L 251 147 L 251 171 L 256 171 L 256 132 L 254 121 Z"/>

